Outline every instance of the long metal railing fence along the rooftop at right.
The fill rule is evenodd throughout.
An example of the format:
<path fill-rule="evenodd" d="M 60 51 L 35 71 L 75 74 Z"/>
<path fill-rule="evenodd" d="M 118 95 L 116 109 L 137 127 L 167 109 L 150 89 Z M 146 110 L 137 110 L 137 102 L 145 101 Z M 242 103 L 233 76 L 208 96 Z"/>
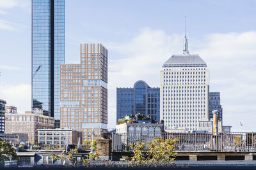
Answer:
<path fill-rule="evenodd" d="M 129 152 L 131 143 L 154 138 L 178 138 L 175 152 L 256 152 L 255 132 L 228 133 L 113 133 L 112 152 Z"/>

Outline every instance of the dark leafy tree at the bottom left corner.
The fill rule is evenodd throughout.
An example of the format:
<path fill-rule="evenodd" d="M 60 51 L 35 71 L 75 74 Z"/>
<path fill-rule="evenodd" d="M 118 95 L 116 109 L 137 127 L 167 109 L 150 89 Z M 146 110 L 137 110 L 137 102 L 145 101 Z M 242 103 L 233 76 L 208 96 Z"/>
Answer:
<path fill-rule="evenodd" d="M 9 160 L 9 157 L 17 159 L 16 150 L 10 143 L 3 142 L 2 139 L 0 139 L 0 164 L 4 164 L 4 160 Z"/>

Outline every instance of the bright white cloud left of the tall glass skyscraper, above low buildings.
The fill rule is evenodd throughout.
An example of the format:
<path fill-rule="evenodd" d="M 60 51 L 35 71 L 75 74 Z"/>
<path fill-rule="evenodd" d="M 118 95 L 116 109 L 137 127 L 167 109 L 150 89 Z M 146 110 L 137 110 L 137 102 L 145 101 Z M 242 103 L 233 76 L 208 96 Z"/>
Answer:
<path fill-rule="evenodd" d="M 31 85 L 5 85 L 0 87 L 1 99 L 6 106 L 16 106 L 18 113 L 31 110 Z"/>

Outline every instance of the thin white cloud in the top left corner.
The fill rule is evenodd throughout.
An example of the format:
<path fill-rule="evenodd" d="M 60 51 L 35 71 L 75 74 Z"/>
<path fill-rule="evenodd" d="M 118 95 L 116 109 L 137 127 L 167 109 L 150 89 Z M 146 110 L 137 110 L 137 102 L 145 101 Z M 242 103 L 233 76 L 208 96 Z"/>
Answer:
<path fill-rule="evenodd" d="M 0 8 L 22 7 L 28 8 L 31 2 L 29 0 L 0 0 Z"/>

